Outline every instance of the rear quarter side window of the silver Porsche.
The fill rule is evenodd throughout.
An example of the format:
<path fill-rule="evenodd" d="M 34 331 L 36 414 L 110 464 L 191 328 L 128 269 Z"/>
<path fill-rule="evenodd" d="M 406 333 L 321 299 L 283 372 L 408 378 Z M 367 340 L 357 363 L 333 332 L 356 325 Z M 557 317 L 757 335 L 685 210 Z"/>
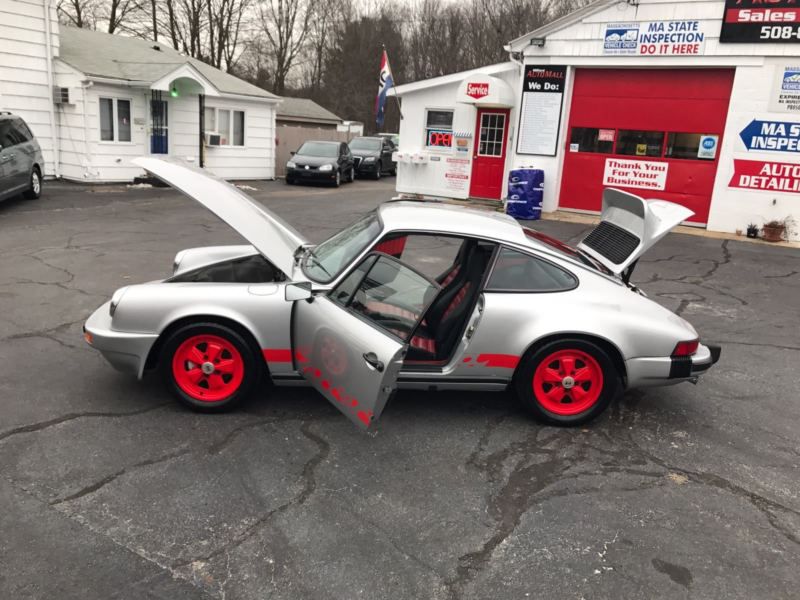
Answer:
<path fill-rule="evenodd" d="M 574 275 L 529 254 L 503 248 L 489 277 L 488 290 L 563 292 L 578 285 Z"/>

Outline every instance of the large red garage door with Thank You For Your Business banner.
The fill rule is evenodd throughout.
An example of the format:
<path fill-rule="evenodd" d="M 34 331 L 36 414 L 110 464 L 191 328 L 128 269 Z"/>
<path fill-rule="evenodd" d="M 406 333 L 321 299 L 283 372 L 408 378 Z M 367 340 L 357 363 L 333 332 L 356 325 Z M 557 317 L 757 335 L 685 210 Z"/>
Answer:
<path fill-rule="evenodd" d="M 599 211 L 604 187 L 682 204 L 705 223 L 733 69 L 578 69 L 559 206 Z"/>

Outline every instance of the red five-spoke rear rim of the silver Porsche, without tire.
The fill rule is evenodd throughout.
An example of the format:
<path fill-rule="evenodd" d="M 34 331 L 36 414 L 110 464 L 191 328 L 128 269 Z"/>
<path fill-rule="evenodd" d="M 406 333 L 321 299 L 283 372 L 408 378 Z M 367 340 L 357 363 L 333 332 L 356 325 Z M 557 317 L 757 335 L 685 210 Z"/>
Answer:
<path fill-rule="evenodd" d="M 603 370 L 582 350 L 558 350 L 536 367 L 533 394 L 545 410 L 572 416 L 589 410 L 603 391 Z"/>

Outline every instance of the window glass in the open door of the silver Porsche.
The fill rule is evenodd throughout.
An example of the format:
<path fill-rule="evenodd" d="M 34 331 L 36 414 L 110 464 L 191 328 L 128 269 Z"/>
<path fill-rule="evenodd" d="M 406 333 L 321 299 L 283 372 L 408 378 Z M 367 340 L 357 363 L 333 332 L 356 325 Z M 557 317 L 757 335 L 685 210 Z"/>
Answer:
<path fill-rule="evenodd" d="M 334 302 L 403 340 L 440 287 L 388 256 L 368 257 L 331 292 Z"/>

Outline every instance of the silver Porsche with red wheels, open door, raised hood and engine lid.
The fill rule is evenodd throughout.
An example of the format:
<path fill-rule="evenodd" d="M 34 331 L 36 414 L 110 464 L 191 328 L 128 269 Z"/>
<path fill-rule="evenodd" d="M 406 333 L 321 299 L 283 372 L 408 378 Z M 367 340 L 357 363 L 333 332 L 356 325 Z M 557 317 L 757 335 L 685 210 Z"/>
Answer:
<path fill-rule="evenodd" d="M 387 202 L 314 246 L 203 171 L 134 162 L 250 243 L 182 250 L 170 277 L 117 290 L 84 327 L 113 366 L 160 370 L 192 408 L 230 408 L 269 377 L 369 428 L 397 388 L 511 387 L 535 416 L 574 425 L 624 389 L 696 382 L 719 358 L 630 283 L 692 214 L 676 204 L 608 189 L 572 248 L 497 213 Z"/>

